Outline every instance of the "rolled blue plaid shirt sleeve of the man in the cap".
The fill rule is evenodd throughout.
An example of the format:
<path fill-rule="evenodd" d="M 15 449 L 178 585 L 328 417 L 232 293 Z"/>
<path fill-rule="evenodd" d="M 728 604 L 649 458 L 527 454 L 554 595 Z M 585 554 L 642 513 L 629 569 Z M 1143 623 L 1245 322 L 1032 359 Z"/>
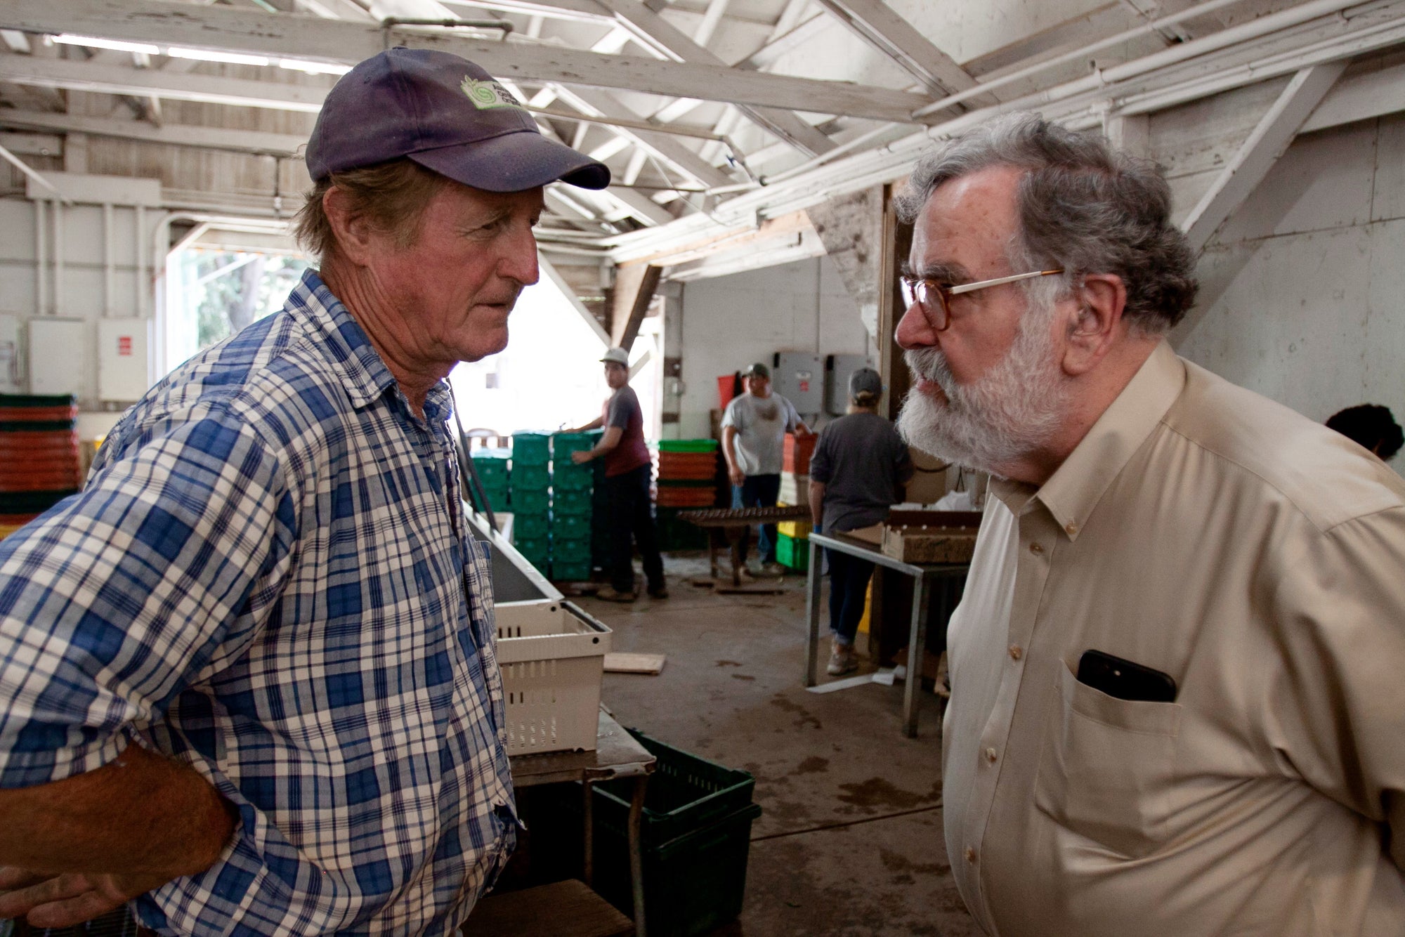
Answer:
<path fill-rule="evenodd" d="M 294 500 L 229 413 L 148 427 L 0 542 L 0 787 L 101 767 L 277 598 Z"/>

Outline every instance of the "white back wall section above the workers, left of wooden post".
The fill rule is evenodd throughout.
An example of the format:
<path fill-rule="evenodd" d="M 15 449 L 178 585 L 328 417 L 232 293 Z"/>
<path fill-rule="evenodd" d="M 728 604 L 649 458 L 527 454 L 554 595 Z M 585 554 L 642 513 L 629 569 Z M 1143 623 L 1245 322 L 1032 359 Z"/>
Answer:
<path fill-rule="evenodd" d="M 683 358 L 687 389 L 679 406 L 679 438 L 710 434 L 719 375 L 753 361 L 770 362 L 776 351 L 874 353 L 858 306 L 829 257 L 697 280 L 683 287 L 679 305 L 681 348 L 665 350 Z"/>

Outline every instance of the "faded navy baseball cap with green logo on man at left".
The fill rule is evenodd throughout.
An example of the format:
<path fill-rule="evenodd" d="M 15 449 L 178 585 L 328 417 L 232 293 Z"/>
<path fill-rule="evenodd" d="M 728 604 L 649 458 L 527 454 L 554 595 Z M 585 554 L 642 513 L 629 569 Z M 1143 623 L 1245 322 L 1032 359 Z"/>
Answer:
<path fill-rule="evenodd" d="M 400 157 L 489 192 L 610 184 L 604 163 L 542 136 L 493 76 L 434 49 L 386 49 L 343 74 L 306 149 L 313 181 Z"/>

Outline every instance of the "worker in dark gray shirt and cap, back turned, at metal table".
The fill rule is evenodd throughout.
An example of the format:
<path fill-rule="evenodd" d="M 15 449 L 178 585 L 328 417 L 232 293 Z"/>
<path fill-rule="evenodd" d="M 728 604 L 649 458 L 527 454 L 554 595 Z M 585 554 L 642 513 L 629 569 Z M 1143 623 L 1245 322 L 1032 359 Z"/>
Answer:
<path fill-rule="evenodd" d="M 819 434 L 809 459 L 809 513 L 825 534 L 858 530 L 888 517 L 912 479 L 912 457 L 892 423 L 878 416 L 882 378 L 860 368 L 849 378 L 849 414 Z M 864 596 L 874 565 L 839 551 L 829 555 L 829 629 L 833 645 L 828 671 L 858 667 L 854 634 L 864 617 Z"/>

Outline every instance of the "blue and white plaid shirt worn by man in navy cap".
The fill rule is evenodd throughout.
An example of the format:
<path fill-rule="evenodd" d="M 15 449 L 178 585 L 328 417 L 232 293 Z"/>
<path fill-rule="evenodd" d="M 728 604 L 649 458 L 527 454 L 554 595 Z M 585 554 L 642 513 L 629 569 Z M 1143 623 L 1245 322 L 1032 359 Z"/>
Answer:
<path fill-rule="evenodd" d="M 0 787 L 138 743 L 243 818 L 163 934 L 447 934 L 516 840 L 486 552 L 448 389 L 413 414 L 308 273 L 0 542 Z"/>

